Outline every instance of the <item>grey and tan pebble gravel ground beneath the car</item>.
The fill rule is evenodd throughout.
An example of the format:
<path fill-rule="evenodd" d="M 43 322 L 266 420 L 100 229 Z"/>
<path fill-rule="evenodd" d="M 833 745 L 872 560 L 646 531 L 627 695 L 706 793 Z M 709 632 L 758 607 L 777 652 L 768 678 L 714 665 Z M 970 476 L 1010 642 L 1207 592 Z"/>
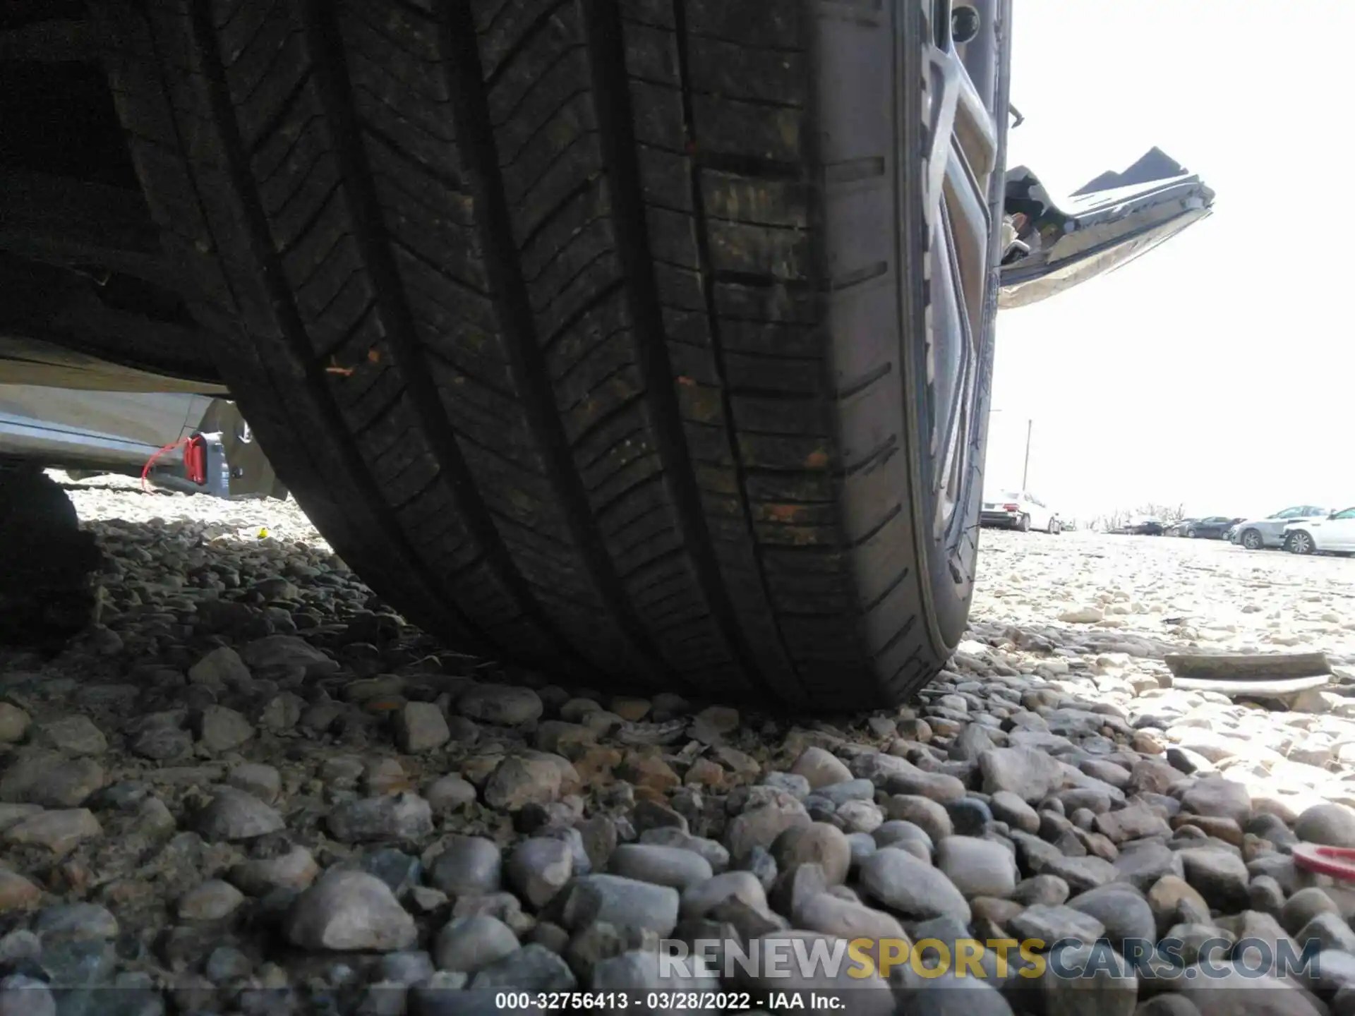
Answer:
<path fill-rule="evenodd" d="M 73 488 L 102 625 L 0 657 L 0 1016 L 802 986 L 854 1012 L 1355 1013 L 1355 891 L 1290 855 L 1355 847 L 1355 561 L 985 532 L 940 680 L 797 723 L 442 649 L 290 503 Z M 1339 677 L 1237 704 L 1172 687 L 1190 646 L 1321 649 Z M 976 937 L 986 973 L 806 985 L 714 955 L 663 981 L 654 952 L 863 936 Z M 1023 975 L 1000 939 L 1088 975 Z M 1135 970 L 1140 940 L 1175 952 Z M 1240 973 L 1294 940 L 1320 943 L 1306 977 Z"/>

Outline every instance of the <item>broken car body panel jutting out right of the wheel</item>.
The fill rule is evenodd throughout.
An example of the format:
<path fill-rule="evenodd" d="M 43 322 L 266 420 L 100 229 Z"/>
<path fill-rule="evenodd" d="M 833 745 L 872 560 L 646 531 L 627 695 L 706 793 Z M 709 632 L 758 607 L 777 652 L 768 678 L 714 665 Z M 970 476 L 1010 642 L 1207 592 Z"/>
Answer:
<path fill-rule="evenodd" d="M 1161 149 L 1058 202 L 1027 167 L 1007 172 L 999 306 L 1028 306 L 1111 272 L 1206 218 L 1214 192 Z"/>

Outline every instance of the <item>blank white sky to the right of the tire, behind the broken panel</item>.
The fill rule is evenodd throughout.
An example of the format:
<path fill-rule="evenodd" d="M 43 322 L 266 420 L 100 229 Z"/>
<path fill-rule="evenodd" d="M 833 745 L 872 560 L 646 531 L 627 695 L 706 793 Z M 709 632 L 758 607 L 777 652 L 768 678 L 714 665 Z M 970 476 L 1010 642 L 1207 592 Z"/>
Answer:
<path fill-rule="evenodd" d="M 1008 165 L 1056 194 L 1153 145 L 1217 192 L 1163 247 L 997 321 L 989 489 L 1065 515 L 1355 504 L 1355 3 L 1016 0 Z"/>

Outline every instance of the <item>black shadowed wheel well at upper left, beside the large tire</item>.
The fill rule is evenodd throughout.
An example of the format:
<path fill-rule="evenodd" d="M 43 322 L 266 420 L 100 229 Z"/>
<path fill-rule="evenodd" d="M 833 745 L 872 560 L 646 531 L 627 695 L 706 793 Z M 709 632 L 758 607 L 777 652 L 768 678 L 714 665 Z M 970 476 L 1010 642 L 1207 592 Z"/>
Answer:
<path fill-rule="evenodd" d="M 0 332 L 218 383 L 131 163 L 110 46 L 83 0 L 0 7 Z"/>

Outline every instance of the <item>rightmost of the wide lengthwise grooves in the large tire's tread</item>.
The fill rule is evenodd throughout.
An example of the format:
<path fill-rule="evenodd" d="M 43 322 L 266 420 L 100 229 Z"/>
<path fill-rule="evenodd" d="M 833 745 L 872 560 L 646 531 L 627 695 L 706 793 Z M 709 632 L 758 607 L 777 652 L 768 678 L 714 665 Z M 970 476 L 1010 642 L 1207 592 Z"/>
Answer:
<path fill-rule="evenodd" d="M 654 416 L 654 436 L 665 484 L 672 497 L 678 531 L 687 549 L 696 585 L 710 607 L 710 615 L 736 666 L 772 700 L 778 698 L 738 620 L 729 588 L 721 574 L 713 534 L 696 488 L 696 473 L 683 429 L 682 412 L 673 390 L 673 368 L 668 356 L 667 329 L 654 279 L 645 215 L 644 187 L 630 108 L 630 80 L 626 73 L 625 38 L 621 12 L 608 0 L 584 0 L 588 12 L 589 70 L 598 103 L 598 119 L 607 180 L 615 207 L 617 242 L 631 305 L 649 406 Z"/>

